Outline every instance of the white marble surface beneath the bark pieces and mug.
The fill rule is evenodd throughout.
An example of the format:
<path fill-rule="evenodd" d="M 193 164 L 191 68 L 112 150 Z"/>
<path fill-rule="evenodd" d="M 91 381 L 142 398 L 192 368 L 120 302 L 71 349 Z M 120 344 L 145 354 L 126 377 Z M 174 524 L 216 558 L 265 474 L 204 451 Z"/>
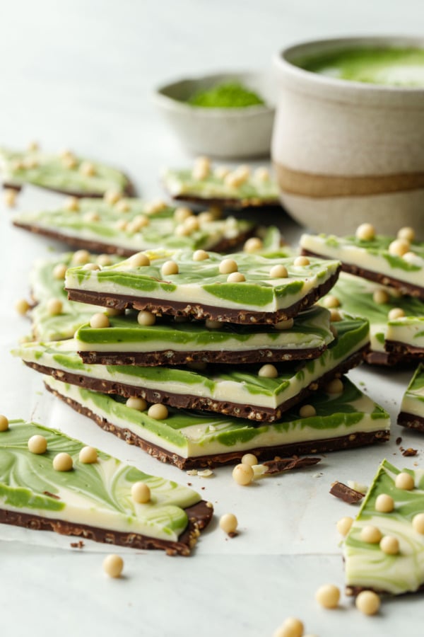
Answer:
<path fill-rule="evenodd" d="M 160 167 L 188 159 L 155 113 L 156 84 L 203 71 L 264 68 L 295 40 L 416 33 L 424 19 L 419 0 L 15 0 L 0 11 L 0 144 L 38 139 L 46 149 L 71 147 L 126 168 L 152 197 L 160 193 Z M 48 198 L 28 191 L 20 207 Z M 101 568 L 107 548 L 87 543 L 71 550 L 55 534 L 2 527 L 0 634 L 267 637 L 294 614 L 320 637 L 422 635 L 419 597 L 389 600 L 379 616 L 366 618 L 344 597 L 337 611 L 320 609 L 314 591 L 325 582 L 343 586 L 334 524 L 352 510 L 328 495 L 331 482 L 367 483 L 384 454 L 402 466 L 421 464 L 423 439 L 394 425 L 384 447 L 329 454 L 310 471 L 249 488 L 235 485 L 230 469 L 202 480 L 159 464 L 47 396 L 39 375 L 11 357 L 28 331 L 13 304 L 28 292 L 33 258 L 53 242 L 13 229 L 10 214 L 0 210 L 0 411 L 60 427 L 153 474 L 204 487 L 216 518 L 235 512 L 241 533 L 226 539 L 213 522 L 191 558 L 123 551 L 124 578 L 108 580 Z M 287 219 L 281 222 L 290 238 L 298 235 Z M 351 376 L 396 418 L 407 373 L 362 368 Z M 405 447 L 419 449 L 418 457 L 401 457 L 398 435 Z"/>

